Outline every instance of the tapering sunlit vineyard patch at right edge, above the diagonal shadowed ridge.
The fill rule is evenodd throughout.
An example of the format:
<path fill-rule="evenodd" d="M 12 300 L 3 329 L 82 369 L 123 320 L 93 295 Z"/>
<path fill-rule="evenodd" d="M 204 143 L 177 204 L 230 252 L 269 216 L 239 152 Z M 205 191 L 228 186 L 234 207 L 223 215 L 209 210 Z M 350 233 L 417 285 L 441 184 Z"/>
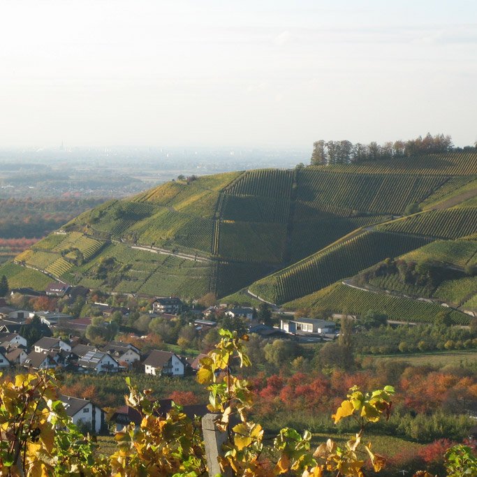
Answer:
<path fill-rule="evenodd" d="M 477 233 L 477 208 L 431 210 L 378 226 L 380 230 L 456 239 Z"/>

